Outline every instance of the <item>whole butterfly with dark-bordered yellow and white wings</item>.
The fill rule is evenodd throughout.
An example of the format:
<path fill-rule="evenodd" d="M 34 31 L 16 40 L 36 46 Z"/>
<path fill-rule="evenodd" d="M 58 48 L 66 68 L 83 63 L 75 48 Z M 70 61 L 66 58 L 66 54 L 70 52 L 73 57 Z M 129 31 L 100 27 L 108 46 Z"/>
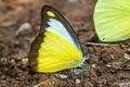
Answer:
<path fill-rule="evenodd" d="M 39 34 L 30 46 L 30 69 L 53 73 L 81 66 L 88 58 L 88 52 L 82 51 L 78 37 L 66 18 L 52 7 L 44 5 L 41 9 Z"/>

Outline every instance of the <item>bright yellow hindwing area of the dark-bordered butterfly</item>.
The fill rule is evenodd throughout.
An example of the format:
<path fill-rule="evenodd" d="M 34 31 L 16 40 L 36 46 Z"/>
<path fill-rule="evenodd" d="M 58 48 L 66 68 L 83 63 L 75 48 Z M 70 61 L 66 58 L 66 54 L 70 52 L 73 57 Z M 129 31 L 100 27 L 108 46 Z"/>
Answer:
<path fill-rule="evenodd" d="M 38 50 L 38 72 L 51 73 L 80 65 L 81 52 L 57 34 L 46 32 Z"/>

